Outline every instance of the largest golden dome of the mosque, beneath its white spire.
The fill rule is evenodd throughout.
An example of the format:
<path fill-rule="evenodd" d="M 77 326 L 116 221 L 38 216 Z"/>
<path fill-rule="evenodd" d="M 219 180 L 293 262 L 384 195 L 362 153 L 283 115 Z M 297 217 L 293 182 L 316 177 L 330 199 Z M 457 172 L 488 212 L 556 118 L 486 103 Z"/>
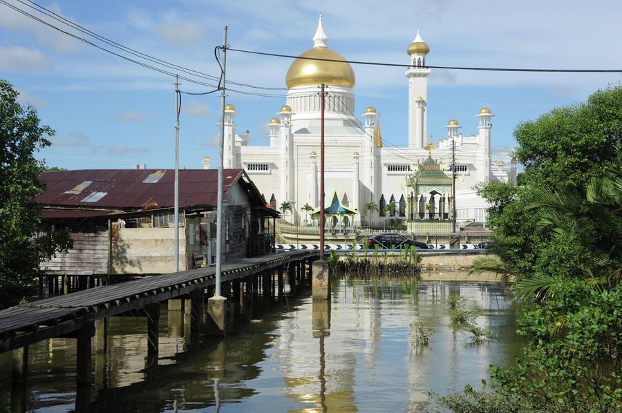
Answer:
<path fill-rule="evenodd" d="M 288 88 L 296 86 L 344 86 L 352 88 L 357 81 L 354 70 L 343 56 L 325 46 L 314 47 L 304 52 L 300 57 L 314 59 L 331 59 L 337 61 L 322 61 L 310 59 L 296 59 L 290 66 L 285 84 Z M 340 63 L 343 61 L 343 63 Z"/>

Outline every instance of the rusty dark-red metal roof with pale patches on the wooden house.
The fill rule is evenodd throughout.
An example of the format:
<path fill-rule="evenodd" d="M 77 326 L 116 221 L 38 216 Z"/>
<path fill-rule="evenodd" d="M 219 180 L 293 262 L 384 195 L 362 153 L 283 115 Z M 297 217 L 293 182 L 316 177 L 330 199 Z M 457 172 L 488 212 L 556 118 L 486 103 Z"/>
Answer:
<path fill-rule="evenodd" d="M 224 193 L 241 177 L 242 169 L 225 169 Z M 172 207 L 173 169 L 82 169 L 41 174 L 46 190 L 38 204 L 112 209 L 142 209 L 148 202 Z M 217 203 L 217 169 L 179 171 L 179 206 Z"/>

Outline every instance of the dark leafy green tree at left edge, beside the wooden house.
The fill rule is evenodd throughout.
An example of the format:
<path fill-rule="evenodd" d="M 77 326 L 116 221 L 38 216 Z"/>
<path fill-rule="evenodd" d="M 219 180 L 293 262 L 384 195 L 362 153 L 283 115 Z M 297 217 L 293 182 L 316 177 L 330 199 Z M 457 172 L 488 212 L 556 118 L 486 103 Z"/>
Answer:
<path fill-rule="evenodd" d="M 44 189 L 44 164 L 35 151 L 50 145 L 54 131 L 39 124 L 32 106 L 21 106 L 18 93 L 0 80 L 0 308 L 15 305 L 37 291 L 39 262 L 70 247 L 67 231 L 48 229 L 33 237 L 41 223 L 35 197 Z"/>

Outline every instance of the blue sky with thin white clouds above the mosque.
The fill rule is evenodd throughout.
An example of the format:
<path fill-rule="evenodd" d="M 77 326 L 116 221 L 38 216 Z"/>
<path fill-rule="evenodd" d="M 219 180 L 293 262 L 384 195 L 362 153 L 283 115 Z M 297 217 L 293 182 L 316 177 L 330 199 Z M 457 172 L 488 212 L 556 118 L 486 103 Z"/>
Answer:
<path fill-rule="evenodd" d="M 68 32 L 75 30 L 3 0 Z M 319 12 L 328 46 L 349 60 L 408 64 L 406 48 L 420 30 L 431 66 L 501 68 L 622 68 L 622 1 L 55 1 L 40 2 L 97 35 L 178 66 L 218 76 L 214 47 L 223 26 L 232 48 L 300 55 L 313 45 Z M 83 34 L 79 34 L 86 37 Z M 95 39 L 98 46 L 110 48 Z M 116 50 L 119 52 L 119 50 Z M 124 52 L 120 54 L 133 57 Z M 145 62 L 149 63 L 149 62 Z M 227 79 L 278 88 L 229 90 L 238 133 L 251 145 L 267 145 L 266 124 L 285 104 L 282 57 L 227 53 Z M 151 64 L 151 63 L 149 63 Z M 155 65 L 154 65 L 155 66 Z M 162 66 L 158 66 L 162 68 Z M 357 77 L 356 113 L 373 105 L 381 113 L 385 142 L 408 142 L 408 80 L 404 68 L 352 65 Z M 162 68 L 171 73 L 176 70 Z M 190 77 L 186 73 L 179 73 Z M 173 77 L 103 52 L 20 15 L 0 2 L 0 79 L 10 81 L 23 104 L 32 104 L 56 134 L 37 154 L 48 166 L 119 169 L 144 163 L 174 165 Z M 211 79 L 193 77 L 214 84 Z M 213 90 L 190 81 L 180 89 Z M 433 69 L 428 77 L 428 134 L 437 141 L 458 119 L 462 133 L 476 132 L 475 115 L 489 106 L 492 144 L 516 146 L 520 122 L 556 106 L 578 104 L 599 88 L 622 84 L 621 73 L 498 73 Z M 200 168 L 205 155 L 218 159 L 220 96 L 182 95 L 180 167 Z M 360 117 L 362 119 L 362 117 Z"/>

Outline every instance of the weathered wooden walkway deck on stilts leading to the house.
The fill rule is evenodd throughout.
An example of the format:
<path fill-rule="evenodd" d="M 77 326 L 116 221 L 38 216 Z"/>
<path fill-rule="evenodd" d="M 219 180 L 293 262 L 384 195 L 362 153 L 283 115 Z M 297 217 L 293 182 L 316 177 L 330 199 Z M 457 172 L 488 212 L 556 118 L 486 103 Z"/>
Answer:
<path fill-rule="evenodd" d="M 223 265 L 223 282 L 251 276 L 289 262 L 313 260 L 317 251 L 288 251 L 244 258 Z M 142 309 L 213 286 L 214 267 L 150 276 L 55 296 L 0 311 L 0 353 L 67 336 L 95 320 Z"/>

